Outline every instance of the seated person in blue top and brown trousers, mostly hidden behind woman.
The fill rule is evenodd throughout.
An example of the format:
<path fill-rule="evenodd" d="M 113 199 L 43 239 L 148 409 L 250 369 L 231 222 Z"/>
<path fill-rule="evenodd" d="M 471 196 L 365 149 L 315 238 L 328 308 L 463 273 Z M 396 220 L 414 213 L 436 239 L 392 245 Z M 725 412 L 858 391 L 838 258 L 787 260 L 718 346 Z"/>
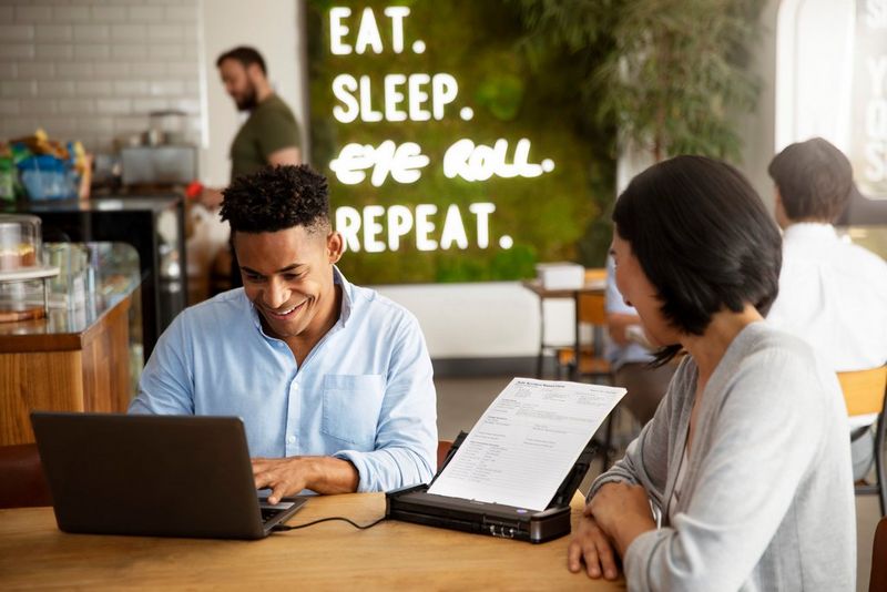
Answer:
<path fill-rule="evenodd" d="M 628 335 L 629 327 L 640 326 L 641 317 L 634 307 L 625 304 L 615 282 L 613 257 L 606 258 L 606 328 L 610 340 L 606 344 L 606 358 L 613 369 L 615 386 L 628 389 L 622 405 L 631 415 L 644 425 L 653 418 L 656 407 L 674 375 L 675 366 L 664 364 L 652 366 L 653 356 L 650 350 L 632 340 Z"/>

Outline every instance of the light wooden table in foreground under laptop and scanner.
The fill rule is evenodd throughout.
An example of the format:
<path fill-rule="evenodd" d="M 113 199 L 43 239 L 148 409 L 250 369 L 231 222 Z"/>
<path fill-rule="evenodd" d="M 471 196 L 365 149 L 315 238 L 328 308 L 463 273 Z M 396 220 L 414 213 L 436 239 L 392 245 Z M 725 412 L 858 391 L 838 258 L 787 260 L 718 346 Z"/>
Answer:
<path fill-rule="evenodd" d="M 125 488 L 124 488 L 125 489 Z M 573 498 L 573 521 L 582 498 Z M 381 493 L 308 501 L 289 524 L 369 523 Z M 383 522 L 325 522 L 261 541 L 67 534 L 51 508 L 0 510 L 0 589 L 624 590 L 567 570 L 570 538 L 542 544 Z"/>

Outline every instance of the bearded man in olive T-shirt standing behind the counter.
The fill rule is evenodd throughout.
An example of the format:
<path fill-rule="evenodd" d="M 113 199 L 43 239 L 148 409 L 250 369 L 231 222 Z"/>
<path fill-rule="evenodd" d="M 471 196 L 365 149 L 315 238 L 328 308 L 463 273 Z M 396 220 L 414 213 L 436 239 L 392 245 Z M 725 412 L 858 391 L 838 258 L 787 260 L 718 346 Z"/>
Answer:
<path fill-rule="evenodd" d="M 215 62 L 225 91 L 238 111 L 249 113 L 231 144 L 231 178 L 251 174 L 267 165 L 300 164 L 299 129 L 293 111 L 268 82 L 265 59 L 254 48 L 237 47 Z M 202 202 L 216 208 L 222 193 L 206 190 Z M 232 251 L 231 284 L 243 285 L 236 255 Z"/>

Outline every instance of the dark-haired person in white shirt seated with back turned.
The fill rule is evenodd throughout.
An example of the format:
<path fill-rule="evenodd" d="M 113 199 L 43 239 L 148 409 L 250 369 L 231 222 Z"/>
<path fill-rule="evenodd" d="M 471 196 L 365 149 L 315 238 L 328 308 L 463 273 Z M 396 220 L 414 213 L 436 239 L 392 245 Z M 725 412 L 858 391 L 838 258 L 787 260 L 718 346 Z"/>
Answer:
<path fill-rule="evenodd" d="M 784 235 L 779 296 L 767 320 L 806 340 L 832 370 L 884 365 L 887 263 L 842 241 L 832 226 L 855 191 L 850 162 L 815 137 L 786 147 L 768 172 Z M 854 479 L 863 479 L 871 467 L 876 419 L 850 418 Z"/>

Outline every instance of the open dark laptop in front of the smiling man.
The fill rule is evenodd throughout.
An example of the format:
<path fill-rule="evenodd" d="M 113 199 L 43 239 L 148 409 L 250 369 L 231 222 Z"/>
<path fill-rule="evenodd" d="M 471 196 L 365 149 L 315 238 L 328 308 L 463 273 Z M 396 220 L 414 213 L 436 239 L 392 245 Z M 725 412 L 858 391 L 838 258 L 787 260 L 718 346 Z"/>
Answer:
<path fill-rule="evenodd" d="M 236 417 L 32 411 L 59 529 L 262 539 L 305 498 L 259 498 Z"/>

